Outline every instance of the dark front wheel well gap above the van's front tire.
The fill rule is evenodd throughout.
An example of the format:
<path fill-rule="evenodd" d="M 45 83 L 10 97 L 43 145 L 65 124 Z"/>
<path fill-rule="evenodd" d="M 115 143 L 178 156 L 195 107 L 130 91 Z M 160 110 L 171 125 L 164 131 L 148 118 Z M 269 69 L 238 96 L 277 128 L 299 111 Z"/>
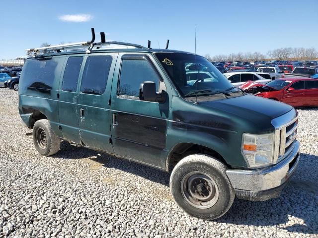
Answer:
<path fill-rule="evenodd" d="M 229 166 L 224 158 L 215 150 L 202 145 L 196 145 L 191 143 L 177 144 L 170 152 L 167 160 L 167 170 L 170 171 L 173 167 L 181 161 L 184 157 L 192 154 L 205 154 L 210 155 L 218 159 L 224 165 Z M 229 166 L 230 167 L 230 166 Z"/>

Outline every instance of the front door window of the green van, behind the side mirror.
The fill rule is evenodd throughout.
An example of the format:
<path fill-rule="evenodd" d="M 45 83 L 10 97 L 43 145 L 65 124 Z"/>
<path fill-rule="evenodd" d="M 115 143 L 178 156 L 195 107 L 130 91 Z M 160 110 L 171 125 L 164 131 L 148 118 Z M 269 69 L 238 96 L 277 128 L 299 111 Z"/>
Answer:
<path fill-rule="evenodd" d="M 159 75 L 143 59 L 123 59 L 121 62 L 118 95 L 139 97 L 139 86 L 142 82 L 153 81 L 158 92 Z"/>

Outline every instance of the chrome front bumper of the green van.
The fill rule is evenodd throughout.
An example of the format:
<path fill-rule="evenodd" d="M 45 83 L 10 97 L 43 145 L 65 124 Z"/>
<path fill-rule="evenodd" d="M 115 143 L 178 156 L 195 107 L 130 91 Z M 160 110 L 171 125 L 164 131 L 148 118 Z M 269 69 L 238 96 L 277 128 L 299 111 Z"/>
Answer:
<path fill-rule="evenodd" d="M 239 199 L 265 201 L 280 196 L 300 160 L 300 143 L 280 163 L 259 170 L 227 170 Z"/>

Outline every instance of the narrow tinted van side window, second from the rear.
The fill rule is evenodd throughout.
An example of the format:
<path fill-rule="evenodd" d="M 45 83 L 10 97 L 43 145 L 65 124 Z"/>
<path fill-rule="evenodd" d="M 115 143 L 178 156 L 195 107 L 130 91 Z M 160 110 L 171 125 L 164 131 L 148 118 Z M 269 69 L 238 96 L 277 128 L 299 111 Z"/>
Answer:
<path fill-rule="evenodd" d="M 76 92 L 79 80 L 79 70 L 83 57 L 70 57 L 65 67 L 62 90 Z"/>

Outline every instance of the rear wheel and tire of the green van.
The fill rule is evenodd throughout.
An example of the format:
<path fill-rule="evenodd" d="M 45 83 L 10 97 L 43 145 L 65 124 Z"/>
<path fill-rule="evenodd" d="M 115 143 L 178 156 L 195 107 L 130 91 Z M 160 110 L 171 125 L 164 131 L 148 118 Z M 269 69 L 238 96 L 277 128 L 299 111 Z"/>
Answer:
<path fill-rule="evenodd" d="M 56 154 L 61 146 L 61 139 L 54 134 L 47 119 L 37 120 L 34 123 L 33 142 L 36 150 L 45 156 Z"/>

